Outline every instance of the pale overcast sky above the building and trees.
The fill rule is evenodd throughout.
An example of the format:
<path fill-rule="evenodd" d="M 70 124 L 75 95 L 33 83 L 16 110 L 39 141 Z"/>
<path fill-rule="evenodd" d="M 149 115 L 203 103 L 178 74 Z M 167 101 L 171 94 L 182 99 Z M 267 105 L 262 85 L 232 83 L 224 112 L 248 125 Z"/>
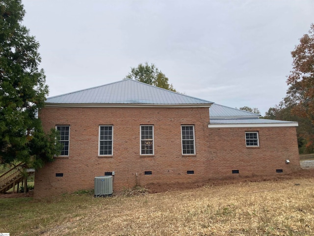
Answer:
<path fill-rule="evenodd" d="M 154 63 L 173 87 L 264 115 L 286 96 L 290 52 L 313 0 L 22 0 L 49 96 L 120 81 Z"/>

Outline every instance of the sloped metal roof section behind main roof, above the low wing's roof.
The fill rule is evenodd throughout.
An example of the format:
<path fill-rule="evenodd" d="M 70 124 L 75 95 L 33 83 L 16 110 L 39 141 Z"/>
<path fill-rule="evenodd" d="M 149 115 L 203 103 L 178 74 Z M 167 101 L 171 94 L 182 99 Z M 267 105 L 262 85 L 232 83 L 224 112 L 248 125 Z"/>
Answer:
<path fill-rule="evenodd" d="M 226 107 L 214 103 L 209 108 L 210 119 L 216 118 L 259 118 L 261 115 L 252 112 L 242 111 L 232 107 Z"/>

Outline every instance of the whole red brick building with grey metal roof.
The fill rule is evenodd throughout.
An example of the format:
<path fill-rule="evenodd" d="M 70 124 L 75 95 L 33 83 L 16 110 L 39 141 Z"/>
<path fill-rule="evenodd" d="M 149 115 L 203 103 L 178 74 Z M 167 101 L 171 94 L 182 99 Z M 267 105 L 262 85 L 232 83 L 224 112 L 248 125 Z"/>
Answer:
<path fill-rule="evenodd" d="M 92 189 L 105 173 L 118 191 L 300 168 L 297 122 L 133 80 L 50 97 L 39 117 L 46 131 L 60 131 L 64 148 L 36 172 L 36 198 Z"/>

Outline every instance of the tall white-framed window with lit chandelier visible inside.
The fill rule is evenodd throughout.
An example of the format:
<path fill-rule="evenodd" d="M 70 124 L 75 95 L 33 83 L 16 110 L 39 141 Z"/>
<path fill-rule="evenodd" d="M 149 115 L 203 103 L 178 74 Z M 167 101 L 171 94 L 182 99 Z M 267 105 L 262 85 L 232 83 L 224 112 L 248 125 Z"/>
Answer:
<path fill-rule="evenodd" d="M 141 155 L 154 155 L 153 125 L 141 125 Z"/>

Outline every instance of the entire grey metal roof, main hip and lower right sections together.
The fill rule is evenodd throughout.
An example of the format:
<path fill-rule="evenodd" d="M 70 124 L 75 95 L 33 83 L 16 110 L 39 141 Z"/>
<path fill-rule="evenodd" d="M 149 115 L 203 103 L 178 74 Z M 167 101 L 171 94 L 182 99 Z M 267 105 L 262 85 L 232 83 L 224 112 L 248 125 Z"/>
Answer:
<path fill-rule="evenodd" d="M 134 105 L 198 105 L 209 108 L 210 125 L 295 123 L 292 121 L 259 119 L 260 115 L 213 104 L 210 101 L 161 89 L 134 80 L 122 80 L 107 85 L 83 89 L 46 100 L 51 105 L 67 104 L 134 104 Z"/>

